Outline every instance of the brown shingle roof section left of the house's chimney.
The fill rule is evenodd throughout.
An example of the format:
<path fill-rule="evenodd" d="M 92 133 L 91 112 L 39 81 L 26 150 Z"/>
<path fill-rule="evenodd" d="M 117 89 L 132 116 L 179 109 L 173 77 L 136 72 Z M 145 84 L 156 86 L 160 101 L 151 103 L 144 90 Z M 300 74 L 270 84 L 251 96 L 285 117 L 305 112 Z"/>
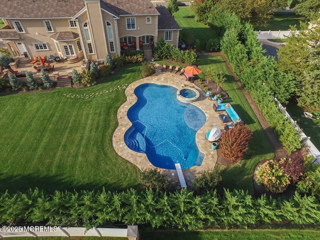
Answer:
<path fill-rule="evenodd" d="M 83 0 L 1 0 L 0 18 L 71 17 L 82 7 Z"/>

